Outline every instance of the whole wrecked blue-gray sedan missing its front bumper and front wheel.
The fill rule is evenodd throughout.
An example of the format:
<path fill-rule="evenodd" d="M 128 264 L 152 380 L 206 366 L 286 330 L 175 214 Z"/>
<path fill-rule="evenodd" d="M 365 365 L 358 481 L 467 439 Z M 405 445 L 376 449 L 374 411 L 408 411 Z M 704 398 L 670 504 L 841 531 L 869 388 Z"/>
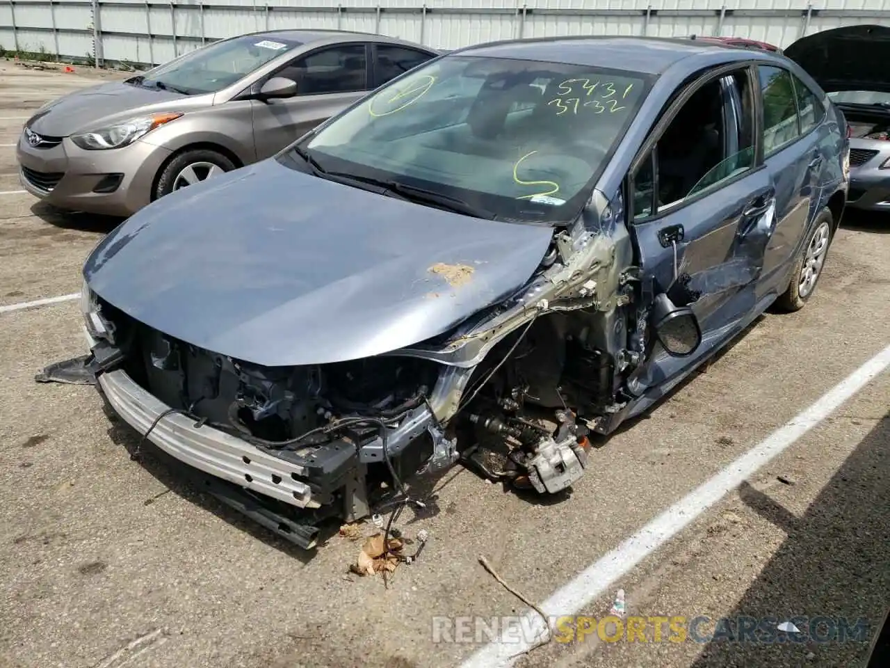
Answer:
<path fill-rule="evenodd" d="M 111 232 L 84 268 L 87 368 L 304 548 L 458 462 L 559 493 L 592 439 L 813 296 L 846 151 L 771 53 L 458 50 Z"/>

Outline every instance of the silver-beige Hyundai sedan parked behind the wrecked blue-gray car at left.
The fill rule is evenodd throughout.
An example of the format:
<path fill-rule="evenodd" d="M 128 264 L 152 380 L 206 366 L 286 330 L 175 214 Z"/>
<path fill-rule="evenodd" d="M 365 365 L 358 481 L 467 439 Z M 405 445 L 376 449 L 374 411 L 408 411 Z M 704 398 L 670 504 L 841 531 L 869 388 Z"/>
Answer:
<path fill-rule="evenodd" d="M 214 42 L 44 105 L 20 136 L 20 180 L 59 208 L 129 216 L 168 192 L 271 156 L 436 55 L 339 30 Z"/>

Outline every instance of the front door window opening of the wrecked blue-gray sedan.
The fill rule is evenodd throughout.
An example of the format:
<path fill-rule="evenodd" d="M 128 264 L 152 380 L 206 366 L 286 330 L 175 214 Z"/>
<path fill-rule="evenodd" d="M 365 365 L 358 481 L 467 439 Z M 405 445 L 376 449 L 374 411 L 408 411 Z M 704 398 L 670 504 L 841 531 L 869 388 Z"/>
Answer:
<path fill-rule="evenodd" d="M 635 220 L 682 205 L 754 165 L 754 98 L 746 69 L 701 86 L 634 177 Z"/>

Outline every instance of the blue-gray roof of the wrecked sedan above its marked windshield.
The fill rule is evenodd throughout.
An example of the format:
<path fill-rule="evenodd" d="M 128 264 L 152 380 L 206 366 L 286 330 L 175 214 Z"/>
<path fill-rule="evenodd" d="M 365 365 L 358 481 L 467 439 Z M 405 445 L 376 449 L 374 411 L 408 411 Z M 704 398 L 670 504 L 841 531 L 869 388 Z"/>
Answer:
<path fill-rule="evenodd" d="M 658 75 L 689 56 L 718 52 L 732 54 L 735 51 L 714 42 L 687 38 L 578 36 L 491 42 L 457 49 L 450 55 L 564 62 Z M 732 61 L 732 56 L 727 60 Z M 619 63 L 618 67 L 616 63 Z"/>

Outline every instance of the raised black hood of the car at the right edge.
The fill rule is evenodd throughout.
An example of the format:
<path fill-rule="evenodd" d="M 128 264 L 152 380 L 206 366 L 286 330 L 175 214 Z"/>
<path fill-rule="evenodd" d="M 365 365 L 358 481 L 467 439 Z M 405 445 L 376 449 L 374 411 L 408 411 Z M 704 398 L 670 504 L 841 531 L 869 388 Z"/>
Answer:
<path fill-rule="evenodd" d="M 845 26 L 802 37 L 784 51 L 826 93 L 878 91 L 890 93 L 887 56 L 890 28 Z M 883 54 L 883 55 L 882 55 Z"/>

